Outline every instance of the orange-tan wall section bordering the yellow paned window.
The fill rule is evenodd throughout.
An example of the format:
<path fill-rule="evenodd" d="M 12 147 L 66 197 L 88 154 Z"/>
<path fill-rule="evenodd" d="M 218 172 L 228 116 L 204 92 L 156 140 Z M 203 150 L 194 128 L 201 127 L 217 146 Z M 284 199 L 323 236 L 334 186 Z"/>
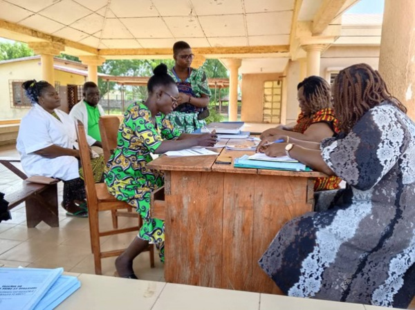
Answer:
<path fill-rule="evenodd" d="M 259 73 L 242 75 L 242 108 L 243 122 L 261 123 L 264 96 L 264 82 L 275 81 L 281 73 Z"/>

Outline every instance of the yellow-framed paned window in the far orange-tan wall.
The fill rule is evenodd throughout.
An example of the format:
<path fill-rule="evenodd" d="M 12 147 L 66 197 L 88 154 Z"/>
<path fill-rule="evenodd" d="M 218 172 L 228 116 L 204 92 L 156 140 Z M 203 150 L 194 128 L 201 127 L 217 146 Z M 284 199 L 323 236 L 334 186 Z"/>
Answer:
<path fill-rule="evenodd" d="M 264 123 L 281 122 L 282 81 L 264 82 L 264 108 L 262 120 Z"/>

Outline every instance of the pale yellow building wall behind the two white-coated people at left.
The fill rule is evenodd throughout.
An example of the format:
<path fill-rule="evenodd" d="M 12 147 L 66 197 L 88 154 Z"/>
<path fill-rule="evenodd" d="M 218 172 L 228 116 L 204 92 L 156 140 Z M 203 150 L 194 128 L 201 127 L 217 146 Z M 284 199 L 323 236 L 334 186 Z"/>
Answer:
<path fill-rule="evenodd" d="M 0 119 L 21 119 L 29 108 L 13 108 L 10 80 L 26 81 L 28 79 L 42 79 L 40 59 L 17 61 L 0 65 Z M 69 72 L 55 70 L 55 81 L 61 86 L 67 84 L 84 84 L 85 77 Z"/>

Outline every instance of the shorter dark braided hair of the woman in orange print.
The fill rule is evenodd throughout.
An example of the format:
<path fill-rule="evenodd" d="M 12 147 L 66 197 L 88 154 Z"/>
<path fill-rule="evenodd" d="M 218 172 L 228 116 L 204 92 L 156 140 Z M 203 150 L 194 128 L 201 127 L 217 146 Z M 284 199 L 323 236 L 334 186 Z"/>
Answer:
<path fill-rule="evenodd" d="M 303 81 L 297 85 L 297 90 L 303 88 L 304 98 L 306 99 L 306 105 L 314 114 L 322 108 L 331 108 L 331 91 L 330 85 L 322 77 L 311 75 L 306 77 Z"/>

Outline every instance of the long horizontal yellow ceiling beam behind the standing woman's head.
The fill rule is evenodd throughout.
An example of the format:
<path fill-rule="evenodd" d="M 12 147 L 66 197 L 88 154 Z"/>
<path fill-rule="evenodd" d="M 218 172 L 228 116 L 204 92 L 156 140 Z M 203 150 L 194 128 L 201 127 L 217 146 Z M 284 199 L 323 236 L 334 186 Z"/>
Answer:
<path fill-rule="evenodd" d="M 243 54 L 273 54 L 286 53 L 288 45 L 281 46 L 230 46 L 216 48 L 192 48 L 196 55 L 235 55 Z M 172 57 L 172 48 L 111 48 L 100 50 L 99 55 L 107 58 L 111 56 L 166 56 Z M 238 55 L 238 56 L 237 56 Z"/>

